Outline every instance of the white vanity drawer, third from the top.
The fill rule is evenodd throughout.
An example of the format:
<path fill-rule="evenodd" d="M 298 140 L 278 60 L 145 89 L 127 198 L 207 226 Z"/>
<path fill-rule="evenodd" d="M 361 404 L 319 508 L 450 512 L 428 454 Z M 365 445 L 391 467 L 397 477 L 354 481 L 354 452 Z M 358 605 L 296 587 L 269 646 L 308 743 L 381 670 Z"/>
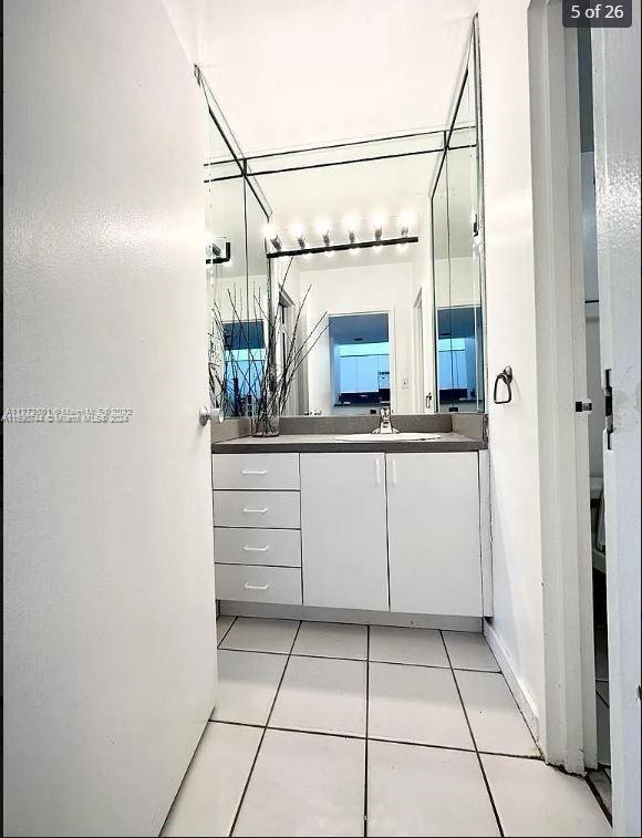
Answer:
<path fill-rule="evenodd" d="M 215 561 L 232 565 L 301 567 L 301 532 L 298 529 L 215 527 Z"/>

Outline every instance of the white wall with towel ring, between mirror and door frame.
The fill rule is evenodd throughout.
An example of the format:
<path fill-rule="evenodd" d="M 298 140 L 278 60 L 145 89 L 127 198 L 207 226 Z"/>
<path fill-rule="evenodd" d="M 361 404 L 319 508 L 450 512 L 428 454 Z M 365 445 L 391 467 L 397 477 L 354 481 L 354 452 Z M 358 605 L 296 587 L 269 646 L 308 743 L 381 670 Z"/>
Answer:
<path fill-rule="evenodd" d="M 495 632 L 535 715 L 543 707 L 543 623 L 527 0 L 480 0 L 486 317 Z M 507 68 L 510 84 L 506 83 Z"/>

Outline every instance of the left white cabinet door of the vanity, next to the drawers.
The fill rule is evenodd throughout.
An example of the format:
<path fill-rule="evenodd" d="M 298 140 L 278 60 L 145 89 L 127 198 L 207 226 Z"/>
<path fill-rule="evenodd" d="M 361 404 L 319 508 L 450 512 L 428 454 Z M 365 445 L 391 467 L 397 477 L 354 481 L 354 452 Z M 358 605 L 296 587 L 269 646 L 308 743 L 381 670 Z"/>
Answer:
<path fill-rule="evenodd" d="M 303 604 L 387 611 L 385 457 L 301 454 Z"/>

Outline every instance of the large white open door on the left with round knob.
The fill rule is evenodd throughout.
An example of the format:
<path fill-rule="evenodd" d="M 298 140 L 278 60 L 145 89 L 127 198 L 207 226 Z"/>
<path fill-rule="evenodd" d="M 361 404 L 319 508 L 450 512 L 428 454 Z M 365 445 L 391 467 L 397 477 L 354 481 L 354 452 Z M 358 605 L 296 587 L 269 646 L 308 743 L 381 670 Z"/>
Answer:
<path fill-rule="evenodd" d="M 4 3 L 4 834 L 157 835 L 215 697 L 203 104 L 155 0 Z"/>

